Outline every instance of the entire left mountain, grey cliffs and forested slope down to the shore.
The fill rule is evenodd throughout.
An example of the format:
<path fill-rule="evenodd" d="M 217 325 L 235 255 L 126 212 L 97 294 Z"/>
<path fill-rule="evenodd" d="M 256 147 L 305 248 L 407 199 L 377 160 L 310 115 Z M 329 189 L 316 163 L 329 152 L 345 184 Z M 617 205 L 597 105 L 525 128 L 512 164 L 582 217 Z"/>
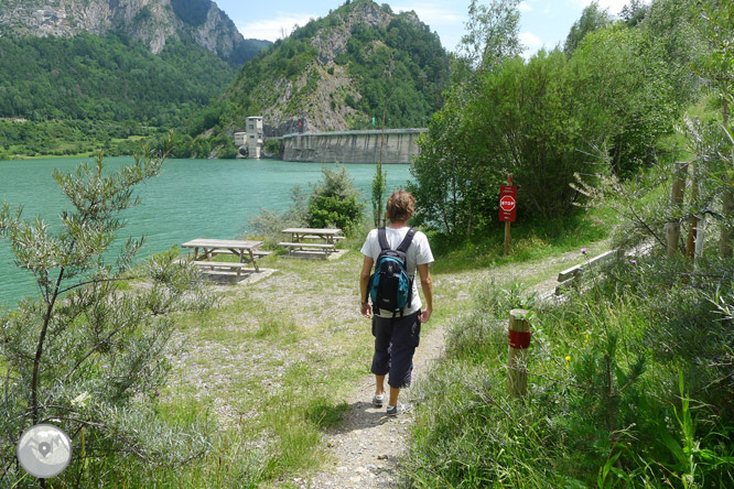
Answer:
<path fill-rule="evenodd" d="M 130 154 L 271 44 L 209 0 L 3 2 L 0 32 L 0 159 Z"/>

